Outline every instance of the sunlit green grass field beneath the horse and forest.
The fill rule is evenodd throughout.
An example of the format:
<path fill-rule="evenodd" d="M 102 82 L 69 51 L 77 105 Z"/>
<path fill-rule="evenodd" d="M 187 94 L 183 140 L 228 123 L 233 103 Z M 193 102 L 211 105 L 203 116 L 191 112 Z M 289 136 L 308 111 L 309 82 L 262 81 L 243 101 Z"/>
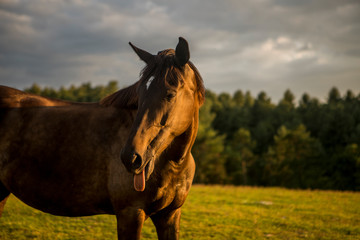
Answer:
<path fill-rule="evenodd" d="M 181 239 L 360 239 L 360 193 L 192 187 Z M 143 239 L 157 239 L 151 221 Z M 56 217 L 11 197 L 0 239 L 116 239 L 114 216 Z"/>

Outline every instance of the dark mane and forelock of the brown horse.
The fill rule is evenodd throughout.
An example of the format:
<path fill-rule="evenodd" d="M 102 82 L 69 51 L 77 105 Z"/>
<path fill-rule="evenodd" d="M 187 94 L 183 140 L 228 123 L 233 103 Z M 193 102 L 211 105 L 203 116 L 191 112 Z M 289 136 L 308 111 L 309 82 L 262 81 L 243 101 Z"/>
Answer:
<path fill-rule="evenodd" d="M 175 51 L 173 49 L 159 52 L 154 58 L 154 61 L 147 64 L 141 71 L 139 81 L 103 98 L 100 101 L 100 104 L 103 106 L 111 105 L 121 108 L 137 109 L 137 88 L 139 84 L 147 81 L 150 76 L 154 76 L 157 81 L 165 81 L 165 84 L 169 84 L 174 87 L 178 86 L 179 79 L 181 79 L 182 76 L 182 69 L 177 66 L 174 56 Z M 187 64 L 195 74 L 199 104 L 202 105 L 205 100 L 205 87 L 202 77 L 192 62 L 189 61 Z"/>

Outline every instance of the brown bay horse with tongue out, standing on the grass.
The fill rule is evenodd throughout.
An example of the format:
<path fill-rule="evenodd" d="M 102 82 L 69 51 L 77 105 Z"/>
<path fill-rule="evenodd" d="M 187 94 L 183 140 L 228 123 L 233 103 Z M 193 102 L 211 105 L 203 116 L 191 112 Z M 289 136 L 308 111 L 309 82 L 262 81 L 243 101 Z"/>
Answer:
<path fill-rule="evenodd" d="M 12 193 L 54 215 L 116 215 L 118 239 L 140 239 L 149 217 L 179 238 L 205 88 L 184 38 L 157 55 L 129 44 L 140 79 L 98 103 L 0 87 L 0 214 Z"/>

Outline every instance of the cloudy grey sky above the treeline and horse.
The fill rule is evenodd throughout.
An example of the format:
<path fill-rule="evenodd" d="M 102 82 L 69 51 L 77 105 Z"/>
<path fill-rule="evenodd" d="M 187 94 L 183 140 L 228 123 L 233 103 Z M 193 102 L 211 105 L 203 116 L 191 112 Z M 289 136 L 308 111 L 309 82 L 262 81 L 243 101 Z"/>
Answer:
<path fill-rule="evenodd" d="M 126 86 L 144 66 L 129 41 L 157 53 L 179 36 L 217 93 L 360 92 L 359 0 L 0 0 L 0 84 Z"/>

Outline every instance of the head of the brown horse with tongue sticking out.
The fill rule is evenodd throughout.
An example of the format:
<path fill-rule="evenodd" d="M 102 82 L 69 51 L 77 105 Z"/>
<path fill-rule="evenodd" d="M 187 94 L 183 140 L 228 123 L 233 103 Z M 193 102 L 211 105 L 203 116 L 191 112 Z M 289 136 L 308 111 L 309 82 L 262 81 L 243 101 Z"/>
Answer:
<path fill-rule="evenodd" d="M 146 66 L 137 84 L 137 115 L 121 159 L 134 174 L 135 190 L 144 191 L 156 159 L 174 139 L 187 132 L 198 117 L 204 101 L 204 86 L 196 67 L 189 61 L 185 39 L 179 38 L 175 50 L 163 50 L 157 55 L 129 44 Z M 193 141 L 188 145 L 192 144 Z M 181 153 L 175 157 L 178 159 L 171 160 L 180 161 L 190 148 L 179 147 Z"/>

